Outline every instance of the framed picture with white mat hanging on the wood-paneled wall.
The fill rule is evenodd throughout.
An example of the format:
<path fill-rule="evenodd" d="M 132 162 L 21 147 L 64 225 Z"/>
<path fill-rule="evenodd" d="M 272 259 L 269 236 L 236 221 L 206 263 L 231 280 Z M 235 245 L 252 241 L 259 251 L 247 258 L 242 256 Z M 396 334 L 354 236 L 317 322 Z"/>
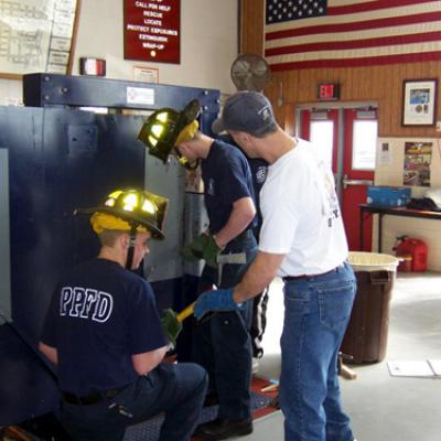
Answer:
<path fill-rule="evenodd" d="M 437 78 L 405 79 L 402 126 L 433 126 L 437 108 Z"/>

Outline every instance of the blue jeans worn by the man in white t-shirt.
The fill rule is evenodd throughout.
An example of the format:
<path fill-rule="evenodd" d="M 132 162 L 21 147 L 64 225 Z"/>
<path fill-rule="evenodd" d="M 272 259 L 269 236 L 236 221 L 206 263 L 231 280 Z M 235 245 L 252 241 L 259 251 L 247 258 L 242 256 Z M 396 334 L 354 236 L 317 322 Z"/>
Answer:
<path fill-rule="evenodd" d="M 286 441 L 352 441 L 337 356 L 356 292 L 352 267 L 286 282 L 280 407 Z"/>

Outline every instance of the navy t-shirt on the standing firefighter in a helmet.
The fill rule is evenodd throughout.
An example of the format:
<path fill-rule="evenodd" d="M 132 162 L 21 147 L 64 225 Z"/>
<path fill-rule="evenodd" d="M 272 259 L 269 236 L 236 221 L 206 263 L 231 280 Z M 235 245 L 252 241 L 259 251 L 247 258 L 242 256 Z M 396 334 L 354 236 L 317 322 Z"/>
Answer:
<path fill-rule="evenodd" d="M 209 230 L 216 234 L 228 222 L 236 201 L 255 200 L 251 173 L 244 153 L 219 140 L 213 142 L 201 170 Z"/>

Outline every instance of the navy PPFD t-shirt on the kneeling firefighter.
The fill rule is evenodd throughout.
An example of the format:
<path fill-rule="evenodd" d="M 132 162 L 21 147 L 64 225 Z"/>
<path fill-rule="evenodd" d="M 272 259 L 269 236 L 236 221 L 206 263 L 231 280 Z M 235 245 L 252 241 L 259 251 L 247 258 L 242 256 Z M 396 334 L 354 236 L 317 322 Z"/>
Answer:
<path fill-rule="evenodd" d="M 62 278 L 41 341 L 57 349 L 60 388 L 78 396 L 132 383 L 131 355 L 168 343 L 151 286 L 106 259 Z"/>

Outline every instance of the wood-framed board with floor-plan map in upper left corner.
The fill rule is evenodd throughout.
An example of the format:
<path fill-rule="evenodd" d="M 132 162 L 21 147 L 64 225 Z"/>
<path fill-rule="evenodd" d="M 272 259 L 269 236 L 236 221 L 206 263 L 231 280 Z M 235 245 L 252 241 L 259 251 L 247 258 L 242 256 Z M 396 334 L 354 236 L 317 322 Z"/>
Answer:
<path fill-rule="evenodd" d="M 0 77 L 72 72 L 80 0 L 0 0 Z"/>

